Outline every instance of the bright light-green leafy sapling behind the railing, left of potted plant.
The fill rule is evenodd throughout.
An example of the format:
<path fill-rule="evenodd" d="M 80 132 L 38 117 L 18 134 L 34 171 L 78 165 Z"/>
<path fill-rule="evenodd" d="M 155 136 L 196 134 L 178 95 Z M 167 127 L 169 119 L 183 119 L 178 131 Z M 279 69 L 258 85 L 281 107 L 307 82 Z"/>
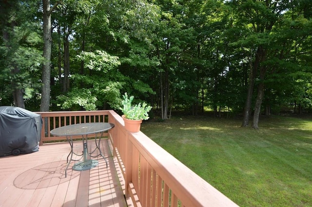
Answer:
<path fill-rule="evenodd" d="M 58 97 L 62 108 L 85 110 L 106 109 L 107 104 L 118 108 L 122 81 L 126 78 L 117 71 L 118 57 L 104 51 L 82 52 L 78 59 L 84 61 L 91 74 L 73 75 L 74 84 L 66 95 Z M 79 83 L 83 82 L 81 87 Z M 80 86 L 80 87 L 79 87 Z"/>

